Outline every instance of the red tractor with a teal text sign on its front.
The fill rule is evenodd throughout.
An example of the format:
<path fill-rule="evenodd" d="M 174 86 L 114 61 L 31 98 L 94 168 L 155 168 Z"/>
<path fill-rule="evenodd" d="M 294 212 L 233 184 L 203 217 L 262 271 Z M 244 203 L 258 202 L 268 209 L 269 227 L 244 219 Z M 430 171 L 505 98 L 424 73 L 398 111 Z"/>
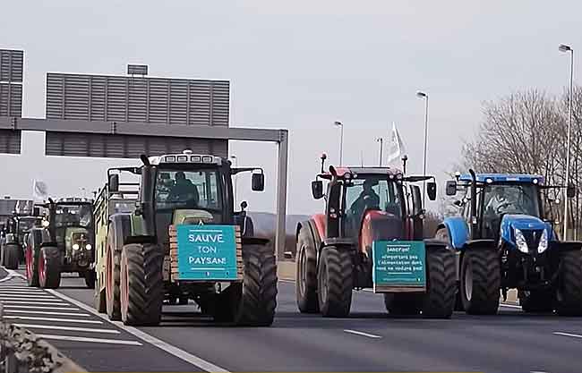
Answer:
<path fill-rule="evenodd" d="M 325 158 L 312 182 L 313 198 L 325 197 L 325 214 L 296 229 L 299 310 L 347 317 L 352 291 L 373 288 L 384 294 L 390 314 L 450 318 L 455 254 L 443 242 L 424 240 L 422 192 L 414 184 L 426 182 L 434 200 L 434 177 L 405 176 L 389 167 L 330 165 L 324 172 Z M 318 179 L 329 181 L 325 195 Z"/>

